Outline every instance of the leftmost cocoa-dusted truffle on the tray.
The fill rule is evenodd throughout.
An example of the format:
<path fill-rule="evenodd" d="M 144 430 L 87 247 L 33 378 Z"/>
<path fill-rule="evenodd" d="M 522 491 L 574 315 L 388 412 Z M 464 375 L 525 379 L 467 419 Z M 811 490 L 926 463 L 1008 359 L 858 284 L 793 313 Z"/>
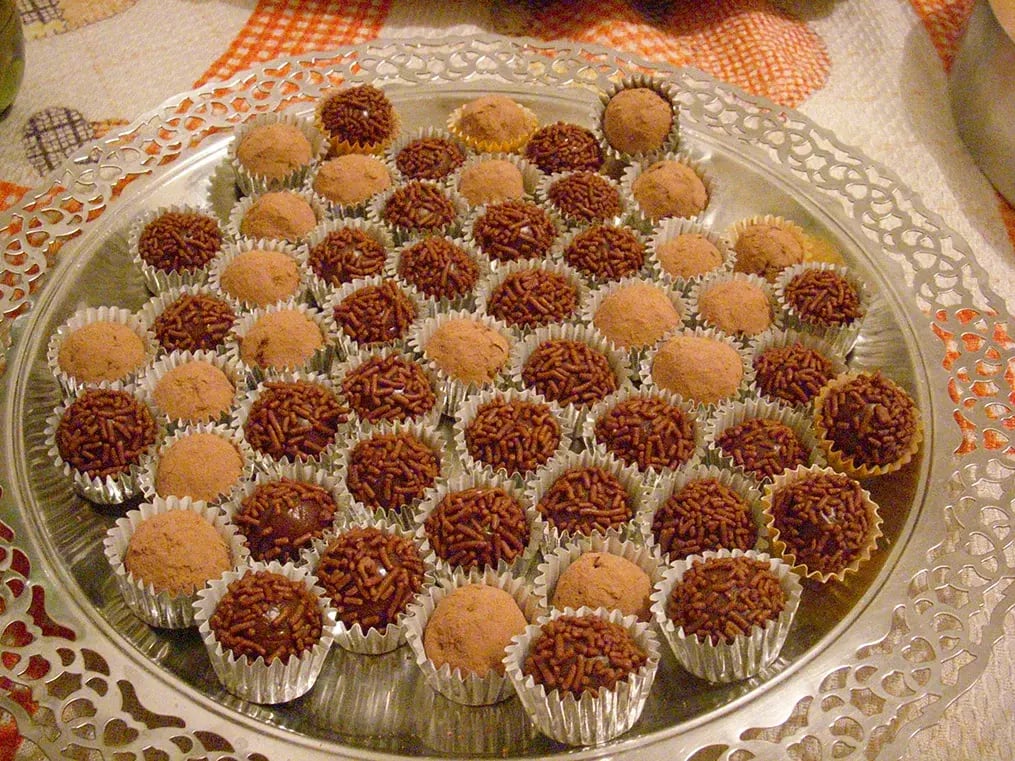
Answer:
<path fill-rule="evenodd" d="M 86 384 L 121 380 L 144 364 L 144 342 L 121 323 L 89 323 L 63 340 L 60 369 Z"/>

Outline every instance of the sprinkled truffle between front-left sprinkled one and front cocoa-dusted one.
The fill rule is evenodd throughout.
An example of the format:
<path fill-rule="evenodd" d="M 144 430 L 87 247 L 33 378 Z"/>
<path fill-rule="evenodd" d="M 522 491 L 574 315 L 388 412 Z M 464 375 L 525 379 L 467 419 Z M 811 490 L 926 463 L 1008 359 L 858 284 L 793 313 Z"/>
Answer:
<path fill-rule="evenodd" d="M 317 577 L 346 626 L 383 631 L 423 585 L 423 559 L 406 537 L 353 528 L 321 554 Z"/>

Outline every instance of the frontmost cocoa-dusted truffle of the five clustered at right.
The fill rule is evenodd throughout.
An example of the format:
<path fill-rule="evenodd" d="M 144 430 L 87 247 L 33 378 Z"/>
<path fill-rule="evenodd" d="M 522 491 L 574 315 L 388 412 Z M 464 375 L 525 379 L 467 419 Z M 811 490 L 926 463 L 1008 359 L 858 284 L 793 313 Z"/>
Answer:
<path fill-rule="evenodd" d="M 656 386 L 701 404 L 734 396 L 743 377 L 744 361 L 737 350 L 707 336 L 674 336 L 652 362 Z"/>

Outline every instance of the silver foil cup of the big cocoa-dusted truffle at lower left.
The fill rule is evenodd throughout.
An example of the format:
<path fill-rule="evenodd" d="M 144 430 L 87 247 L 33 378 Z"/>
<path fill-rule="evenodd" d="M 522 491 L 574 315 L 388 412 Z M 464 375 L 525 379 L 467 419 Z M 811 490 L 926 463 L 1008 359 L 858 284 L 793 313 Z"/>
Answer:
<path fill-rule="evenodd" d="M 232 567 L 246 564 L 247 548 L 228 517 L 217 507 L 204 502 L 195 502 L 189 497 L 183 499 L 156 497 L 150 502 L 142 502 L 137 509 L 130 510 L 118 518 L 110 528 L 103 540 L 103 550 L 113 569 L 117 589 L 134 615 L 149 626 L 186 629 L 194 624 L 194 601 L 197 599 L 197 591 L 178 595 L 158 591 L 153 584 L 145 583 L 143 579 L 135 576 L 124 565 L 127 549 L 138 526 L 152 515 L 171 510 L 189 510 L 207 521 L 228 548 Z"/>

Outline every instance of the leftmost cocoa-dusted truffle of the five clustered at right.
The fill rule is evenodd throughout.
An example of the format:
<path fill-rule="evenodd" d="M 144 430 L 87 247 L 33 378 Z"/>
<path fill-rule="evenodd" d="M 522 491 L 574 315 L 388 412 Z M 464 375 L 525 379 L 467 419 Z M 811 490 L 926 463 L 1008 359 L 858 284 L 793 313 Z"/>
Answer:
<path fill-rule="evenodd" d="M 640 348 L 656 343 L 679 325 L 680 314 L 662 289 L 634 282 L 603 298 L 593 323 L 617 346 Z"/>

